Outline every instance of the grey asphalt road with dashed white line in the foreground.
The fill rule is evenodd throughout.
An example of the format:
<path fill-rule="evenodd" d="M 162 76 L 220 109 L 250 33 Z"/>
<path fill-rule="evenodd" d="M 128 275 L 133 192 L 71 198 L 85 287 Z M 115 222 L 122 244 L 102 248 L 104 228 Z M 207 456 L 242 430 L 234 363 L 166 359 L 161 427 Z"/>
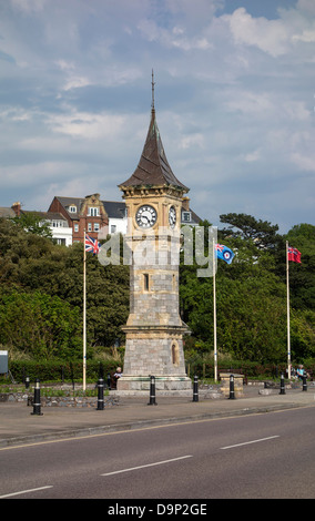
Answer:
<path fill-rule="evenodd" d="M 314 498 L 314 431 L 305 408 L 4 448 L 0 499 Z"/>

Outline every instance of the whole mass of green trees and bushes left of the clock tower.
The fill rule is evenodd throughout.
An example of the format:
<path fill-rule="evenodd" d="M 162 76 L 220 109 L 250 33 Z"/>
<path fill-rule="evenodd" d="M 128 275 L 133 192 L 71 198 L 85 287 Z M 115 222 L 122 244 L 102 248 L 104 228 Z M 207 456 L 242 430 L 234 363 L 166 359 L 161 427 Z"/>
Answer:
<path fill-rule="evenodd" d="M 43 356 L 44 348 L 49 357 L 77 356 L 82 345 L 82 244 L 69 248 L 58 246 L 47 237 L 26 233 L 12 222 L 0 219 L 0 292 L 2 298 L 7 295 L 7 299 L 10 292 L 14 292 L 9 307 L 2 303 L 6 328 L 0 331 L 0 343 L 8 343 L 10 347 L 34 357 Z M 42 298 L 39 303 L 39 293 L 45 295 L 45 300 Z M 19 307 L 26 308 L 24 315 Z M 126 321 L 128 313 L 129 266 L 104 267 L 96 257 L 87 254 L 88 355 L 91 355 L 92 346 L 111 346 L 118 339 L 123 341 L 121 326 Z M 13 323 L 18 323 L 18 317 L 21 319 L 20 327 L 11 337 L 9 315 Z M 26 324 L 23 316 L 28 317 Z M 29 324 L 33 323 L 32 328 Z M 79 328 L 75 333 L 74 323 Z"/>

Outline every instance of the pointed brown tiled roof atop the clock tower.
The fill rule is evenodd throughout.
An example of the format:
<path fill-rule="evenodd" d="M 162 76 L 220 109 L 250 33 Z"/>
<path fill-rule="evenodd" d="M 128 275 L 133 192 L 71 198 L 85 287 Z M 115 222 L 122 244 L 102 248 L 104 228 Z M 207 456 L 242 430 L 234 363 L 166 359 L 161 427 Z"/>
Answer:
<path fill-rule="evenodd" d="M 121 183 L 120 187 L 165 185 L 175 186 L 182 192 L 189 192 L 189 188 L 175 177 L 167 162 L 153 108 L 149 132 L 139 164 L 132 176 L 124 183 Z"/>

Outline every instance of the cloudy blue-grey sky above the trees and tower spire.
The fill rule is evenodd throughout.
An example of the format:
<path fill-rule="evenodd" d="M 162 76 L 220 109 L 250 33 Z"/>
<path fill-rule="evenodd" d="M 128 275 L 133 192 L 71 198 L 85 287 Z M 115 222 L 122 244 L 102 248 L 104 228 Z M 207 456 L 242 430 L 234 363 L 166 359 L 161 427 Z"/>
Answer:
<path fill-rule="evenodd" d="M 151 118 L 191 207 L 315 225 L 314 0 L 1 0 L 0 206 L 118 187 Z"/>

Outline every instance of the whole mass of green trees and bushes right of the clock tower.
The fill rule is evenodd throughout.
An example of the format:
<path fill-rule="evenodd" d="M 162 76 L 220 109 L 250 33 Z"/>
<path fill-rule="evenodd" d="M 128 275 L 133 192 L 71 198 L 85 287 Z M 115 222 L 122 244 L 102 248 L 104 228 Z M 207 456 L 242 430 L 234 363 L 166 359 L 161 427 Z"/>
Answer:
<path fill-rule="evenodd" d="M 277 226 L 244 214 L 221 217 L 231 226 L 219 231 L 219 242 L 231 247 L 235 257 L 231 265 L 217 262 L 217 349 L 243 361 L 285 360 L 286 237 L 277 234 Z M 291 350 L 296 360 L 315 357 L 314 233 L 314 226 L 301 225 L 288 234 L 291 245 L 302 252 L 303 259 L 302 265 L 289 266 Z M 196 268 L 181 264 L 181 313 L 196 339 L 197 350 L 203 353 L 214 347 L 213 279 L 199 278 Z"/>

